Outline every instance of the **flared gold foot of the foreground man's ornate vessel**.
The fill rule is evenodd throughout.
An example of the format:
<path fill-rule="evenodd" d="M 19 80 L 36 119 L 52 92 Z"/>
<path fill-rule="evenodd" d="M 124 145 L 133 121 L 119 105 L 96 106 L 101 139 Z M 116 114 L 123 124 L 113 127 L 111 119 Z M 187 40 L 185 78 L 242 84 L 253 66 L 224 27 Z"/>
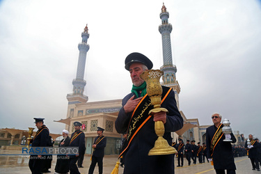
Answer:
<path fill-rule="evenodd" d="M 159 136 L 155 141 L 154 148 L 150 150 L 148 155 L 170 155 L 175 153 L 177 153 L 177 150 L 171 147 L 171 145 L 168 145 L 168 141 L 166 141 L 166 139 L 164 139 L 162 136 Z"/>

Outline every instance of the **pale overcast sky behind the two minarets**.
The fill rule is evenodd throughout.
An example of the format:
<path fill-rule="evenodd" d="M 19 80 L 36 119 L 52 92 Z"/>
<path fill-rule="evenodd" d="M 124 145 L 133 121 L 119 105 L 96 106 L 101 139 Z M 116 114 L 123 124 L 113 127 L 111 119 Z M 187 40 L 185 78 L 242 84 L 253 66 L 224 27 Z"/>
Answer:
<path fill-rule="evenodd" d="M 163 65 L 163 1 L 0 1 L 0 128 L 65 125 L 81 32 L 88 24 L 84 91 L 89 102 L 132 88 L 125 57 L 141 52 Z M 200 125 L 221 113 L 232 130 L 261 139 L 261 1 L 166 0 L 180 110 Z"/>

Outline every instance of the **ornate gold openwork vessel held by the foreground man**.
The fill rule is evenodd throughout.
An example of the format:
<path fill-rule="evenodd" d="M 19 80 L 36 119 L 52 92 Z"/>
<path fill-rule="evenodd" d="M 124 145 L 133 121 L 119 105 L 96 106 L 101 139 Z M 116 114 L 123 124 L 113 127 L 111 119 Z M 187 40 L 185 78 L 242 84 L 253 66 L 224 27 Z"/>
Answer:
<path fill-rule="evenodd" d="M 168 112 L 168 109 L 161 108 L 161 94 L 162 94 L 162 87 L 159 83 L 160 77 L 164 73 L 161 70 L 148 70 L 141 73 L 141 79 L 146 81 L 147 84 L 147 93 L 150 97 L 151 104 L 154 106 L 154 109 L 151 109 L 149 112 L 158 113 L 160 111 Z M 155 132 L 158 136 L 158 139 L 155 141 L 154 148 L 150 150 L 148 155 L 170 155 L 177 153 L 175 148 L 168 145 L 168 141 L 163 138 L 165 127 L 162 121 L 155 122 Z"/>

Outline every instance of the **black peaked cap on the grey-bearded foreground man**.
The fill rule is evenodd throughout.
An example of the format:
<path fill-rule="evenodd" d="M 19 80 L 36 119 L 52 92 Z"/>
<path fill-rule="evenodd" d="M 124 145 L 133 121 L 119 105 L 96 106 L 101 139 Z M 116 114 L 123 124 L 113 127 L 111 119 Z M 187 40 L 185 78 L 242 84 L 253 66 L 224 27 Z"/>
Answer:
<path fill-rule="evenodd" d="M 148 57 L 137 52 L 131 53 L 125 58 L 125 69 L 129 70 L 129 66 L 132 65 L 132 63 L 142 63 L 147 66 L 148 70 L 153 67 L 153 63 Z"/>

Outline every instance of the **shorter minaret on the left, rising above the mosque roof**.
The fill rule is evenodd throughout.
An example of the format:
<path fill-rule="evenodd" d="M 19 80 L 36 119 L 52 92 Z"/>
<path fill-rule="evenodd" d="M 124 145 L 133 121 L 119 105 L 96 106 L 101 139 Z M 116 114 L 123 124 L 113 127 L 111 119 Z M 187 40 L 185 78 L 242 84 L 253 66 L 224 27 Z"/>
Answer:
<path fill-rule="evenodd" d="M 84 32 L 81 33 L 81 43 L 78 45 L 79 49 L 79 59 L 77 66 L 76 79 L 73 79 L 73 90 L 72 94 L 67 95 L 68 104 L 86 103 L 88 101 L 88 96 L 84 95 L 84 87 L 86 86 L 86 81 L 84 80 L 84 70 L 86 63 L 86 54 L 89 50 L 89 45 L 87 40 L 89 38 L 87 25 L 84 28 Z"/>

